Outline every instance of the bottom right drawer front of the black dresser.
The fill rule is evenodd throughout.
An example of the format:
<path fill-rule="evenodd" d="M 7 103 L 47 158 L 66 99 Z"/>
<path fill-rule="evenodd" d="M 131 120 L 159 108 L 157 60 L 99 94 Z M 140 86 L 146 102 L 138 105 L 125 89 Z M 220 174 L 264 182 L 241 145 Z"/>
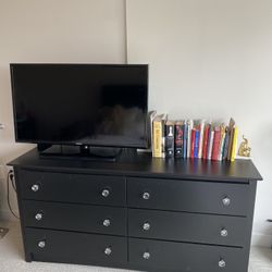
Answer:
<path fill-rule="evenodd" d="M 129 238 L 129 262 L 181 272 L 246 272 L 247 261 L 242 248 Z"/>

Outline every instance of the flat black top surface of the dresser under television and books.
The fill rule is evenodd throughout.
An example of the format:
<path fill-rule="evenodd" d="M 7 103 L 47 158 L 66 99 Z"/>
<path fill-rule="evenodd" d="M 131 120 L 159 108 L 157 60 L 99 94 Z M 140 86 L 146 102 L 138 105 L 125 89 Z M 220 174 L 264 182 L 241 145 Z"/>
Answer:
<path fill-rule="evenodd" d="M 35 148 L 11 161 L 15 168 L 77 172 L 90 174 L 111 174 L 126 176 L 148 176 L 159 178 L 181 178 L 200 181 L 244 182 L 261 181 L 262 176 L 251 160 L 234 162 L 207 161 L 201 159 L 161 159 L 150 153 L 138 152 L 122 156 L 115 162 L 41 158 Z"/>

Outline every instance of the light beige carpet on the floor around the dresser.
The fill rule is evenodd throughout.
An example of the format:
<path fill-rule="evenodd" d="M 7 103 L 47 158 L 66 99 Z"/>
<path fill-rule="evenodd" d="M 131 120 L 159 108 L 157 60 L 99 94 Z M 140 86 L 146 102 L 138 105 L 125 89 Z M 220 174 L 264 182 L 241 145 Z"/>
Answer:
<path fill-rule="evenodd" d="M 0 272 L 126 272 L 127 270 L 97 268 L 75 264 L 25 262 L 22 237 L 17 222 L 2 223 L 10 232 L 0 239 Z M 212 272 L 212 271 L 211 271 Z M 272 250 L 252 247 L 248 272 L 272 272 Z"/>

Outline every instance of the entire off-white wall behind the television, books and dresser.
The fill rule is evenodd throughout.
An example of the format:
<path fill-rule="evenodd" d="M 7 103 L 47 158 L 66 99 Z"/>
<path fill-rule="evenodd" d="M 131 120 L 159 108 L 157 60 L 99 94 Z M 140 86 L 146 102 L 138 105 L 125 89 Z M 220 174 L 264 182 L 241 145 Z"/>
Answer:
<path fill-rule="evenodd" d="M 124 3 L 0 0 L 2 162 L 30 148 L 14 144 L 9 63 L 124 62 Z M 150 109 L 172 118 L 235 118 L 264 177 L 255 239 L 270 246 L 272 1 L 127 0 L 127 38 L 128 61 L 150 64 Z"/>

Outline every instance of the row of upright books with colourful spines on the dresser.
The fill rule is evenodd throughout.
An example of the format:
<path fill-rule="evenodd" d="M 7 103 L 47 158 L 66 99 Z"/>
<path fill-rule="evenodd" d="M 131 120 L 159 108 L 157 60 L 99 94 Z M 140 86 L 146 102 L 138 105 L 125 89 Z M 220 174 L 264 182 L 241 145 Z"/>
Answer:
<path fill-rule="evenodd" d="M 150 115 L 152 156 L 157 158 L 198 158 L 234 161 L 237 126 L 205 120 L 168 120 L 166 114 Z"/>

